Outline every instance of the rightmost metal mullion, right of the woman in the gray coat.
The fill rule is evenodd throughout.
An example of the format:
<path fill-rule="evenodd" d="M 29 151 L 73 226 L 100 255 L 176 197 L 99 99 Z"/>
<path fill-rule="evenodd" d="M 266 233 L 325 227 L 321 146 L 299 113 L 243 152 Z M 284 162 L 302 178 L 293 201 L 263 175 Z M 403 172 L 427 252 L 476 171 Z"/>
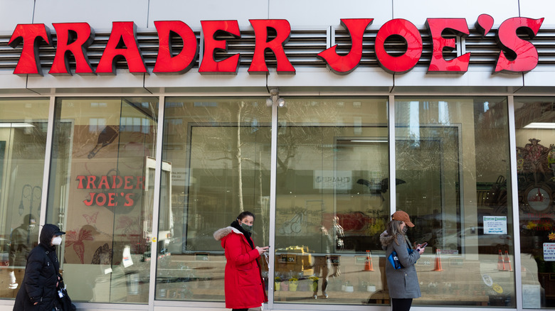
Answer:
<path fill-rule="evenodd" d="M 517 300 L 517 310 L 522 310 L 522 271 L 520 269 L 520 219 L 519 219 L 519 193 L 517 178 L 517 129 L 514 122 L 514 97 L 507 97 L 509 114 L 509 156 L 511 167 L 511 202 L 512 202 L 512 231 L 514 241 L 514 290 Z M 518 256 L 517 256 L 518 255 Z"/>

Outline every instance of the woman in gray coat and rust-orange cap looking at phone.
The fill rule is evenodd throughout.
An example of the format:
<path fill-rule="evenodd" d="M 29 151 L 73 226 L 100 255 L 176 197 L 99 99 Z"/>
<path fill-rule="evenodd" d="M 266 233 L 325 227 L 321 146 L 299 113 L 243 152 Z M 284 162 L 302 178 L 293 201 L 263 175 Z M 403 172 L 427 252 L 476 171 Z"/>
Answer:
<path fill-rule="evenodd" d="M 424 248 L 418 245 L 415 251 L 408 253 L 408 249 L 412 249 L 411 242 L 406 237 L 408 227 L 414 227 L 408 214 L 397 211 L 391 215 L 387 230 L 380 235 L 381 247 L 386 251 L 386 258 L 396 251 L 403 266 L 395 269 L 386 261 L 387 286 L 393 311 L 408 311 L 411 309 L 413 298 L 421 297 L 414 264 L 424 252 Z"/>

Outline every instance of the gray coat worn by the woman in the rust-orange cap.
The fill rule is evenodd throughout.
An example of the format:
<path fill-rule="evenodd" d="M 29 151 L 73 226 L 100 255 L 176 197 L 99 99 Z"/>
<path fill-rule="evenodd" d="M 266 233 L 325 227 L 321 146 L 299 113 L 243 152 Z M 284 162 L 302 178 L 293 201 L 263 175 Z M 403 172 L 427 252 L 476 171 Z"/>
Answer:
<path fill-rule="evenodd" d="M 395 243 L 395 238 L 397 243 Z M 410 248 L 406 237 L 403 234 L 397 236 L 390 236 L 386 231 L 380 235 L 381 246 L 386 251 L 386 258 L 393 253 L 397 252 L 399 261 L 404 268 L 395 269 L 386 260 L 386 277 L 387 287 L 389 289 L 390 298 L 419 298 L 421 297 L 420 285 L 418 285 L 418 276 L 416 275 L 416 268 L 414 264 L 420 258 L 418 251 L 413 251 L 409 254 L 407 247 Z"/>

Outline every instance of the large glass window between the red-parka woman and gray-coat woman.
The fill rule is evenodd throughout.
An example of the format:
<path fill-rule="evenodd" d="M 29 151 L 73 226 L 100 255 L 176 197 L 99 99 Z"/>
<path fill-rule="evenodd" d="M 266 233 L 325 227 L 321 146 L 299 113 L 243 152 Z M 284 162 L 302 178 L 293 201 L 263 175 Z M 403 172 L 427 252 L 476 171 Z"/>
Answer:
<path fill-rule="evenodd" d="M 275 302 L 388 300 L 387 107 L 386 98 L 287 98 L 278 109 Z"/>

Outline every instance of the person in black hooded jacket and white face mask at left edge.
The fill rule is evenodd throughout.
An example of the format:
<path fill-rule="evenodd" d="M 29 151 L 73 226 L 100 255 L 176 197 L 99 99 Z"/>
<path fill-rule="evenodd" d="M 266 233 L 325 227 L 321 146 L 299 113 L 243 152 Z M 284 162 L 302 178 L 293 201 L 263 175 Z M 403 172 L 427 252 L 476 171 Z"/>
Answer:
<path fill-rule="evenodd" d="M 41 230 L 40 243 L 27 257 L 23 284 L 16 296 L 14 311 L 51 311 L 57 307 L 60 263 L 56 256 L 56 246 L 62 242 L 62 235 L 54 224 L 45 224 Z"/>

